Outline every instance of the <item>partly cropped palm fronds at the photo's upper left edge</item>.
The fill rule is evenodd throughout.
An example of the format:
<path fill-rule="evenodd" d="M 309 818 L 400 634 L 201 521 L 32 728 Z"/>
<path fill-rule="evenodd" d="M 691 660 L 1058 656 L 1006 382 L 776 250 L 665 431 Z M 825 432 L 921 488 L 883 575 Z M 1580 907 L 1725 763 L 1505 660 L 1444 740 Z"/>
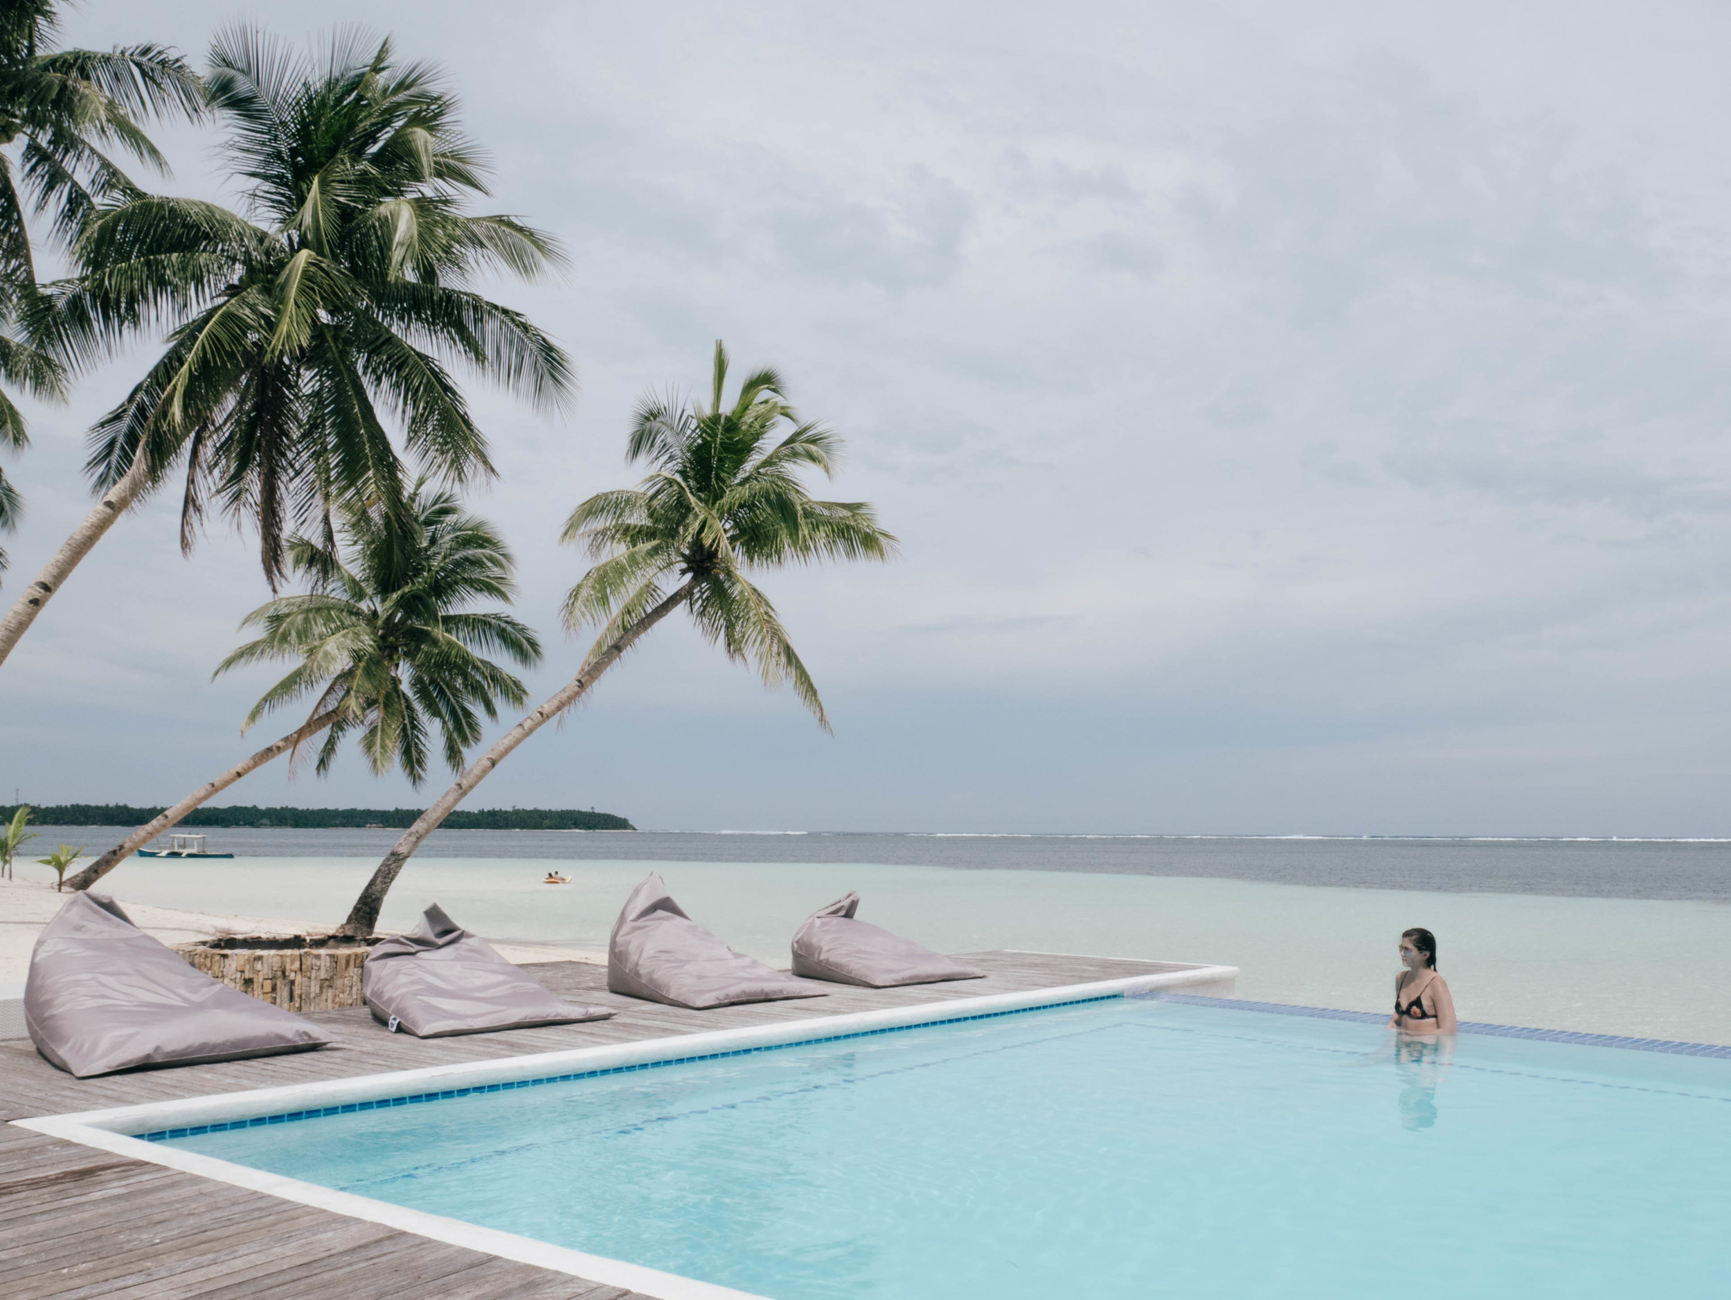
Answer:
<path fill-rule="evenodd" d="M 121 149 L 166 175 L 138 125 L 203 111 L 203 87 L 161 45 L 57 50 L 54 0 L 0 0 L 0 379 L 38 398 L 66 396 L 68 353 L 36 287 L 29 215 L 69 246 L 100 203 L 137 194 L 104 151 Z M 29 445 L 24 417 L 0 391 L 0 445 Z M 17 490 L 0 473 L 0 531 L 17 526 Z M 0 570 L 7 556 L 0 550 Z"/>

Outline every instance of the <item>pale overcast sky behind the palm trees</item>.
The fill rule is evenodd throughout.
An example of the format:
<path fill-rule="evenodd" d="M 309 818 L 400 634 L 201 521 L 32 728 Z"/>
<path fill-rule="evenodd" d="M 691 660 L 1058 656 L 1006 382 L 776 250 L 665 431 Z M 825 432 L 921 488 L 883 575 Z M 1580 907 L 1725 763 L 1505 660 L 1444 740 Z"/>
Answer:
<path fill-rule="evenodd" d="M 467 807 L 658 829 L 1726 836 L 1731 12 L 1705 3 L 306 0 L 441 64 L 561 284 L 549 419 L 473 386 L 550 694 L 557 545 L 717 338 L 846 441 L 885 566 L 763 575 L 834 734 L 665 625 Z M 90 0 L 203 62 L 260 10 Z M 161 189 L 235 201 L 216 128 Z M 88 509 L 31 407 L 10 601 Z M 298 720 L 211 682 L 268 599 L 164 493 L 0 668 L 0 788 L 170 803 Z M 497 730 L 497 729 L 495 729 Z M 218 801 L 407 807 L 353 760 Z"/>

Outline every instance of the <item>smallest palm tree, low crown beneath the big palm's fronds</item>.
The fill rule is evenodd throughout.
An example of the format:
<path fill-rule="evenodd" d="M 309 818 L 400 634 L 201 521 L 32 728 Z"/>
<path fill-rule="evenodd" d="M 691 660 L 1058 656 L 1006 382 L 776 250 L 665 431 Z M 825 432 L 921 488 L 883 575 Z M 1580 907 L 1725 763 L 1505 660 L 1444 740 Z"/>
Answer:
<path fill-rule="evenodd" d="M 405 528 L 383 511 L 350 505 L 339 528 L 346 554 L 308 538 L 289 542 L 287 564 L 312 590 L 248 615 L 241 627 L 265 635 L 241 646 L 215 675 L 298 660 L 246 715 L 242 732 L 265 713 L 312 696 L 306 722 L 128 834 L 73 878 L 74 890 L 88 890 L 213 795 L 320 732 L 319 775 L 331 770 L 343 737 L 358 732 L 376 775 L 402 767 L 419 786 L 434 729 L 445 762 L 460 772 L 464 748 L 481 739 L 481 715 L 497 720 L 497 701 L 523 706 L 523 682 L 483 653 L 533 665 L 540 642 L 509 615 L 467 609 L 474 601 L 511 599 L 505 544 L 448 492 L 417 485 L 407 514 Z"/>

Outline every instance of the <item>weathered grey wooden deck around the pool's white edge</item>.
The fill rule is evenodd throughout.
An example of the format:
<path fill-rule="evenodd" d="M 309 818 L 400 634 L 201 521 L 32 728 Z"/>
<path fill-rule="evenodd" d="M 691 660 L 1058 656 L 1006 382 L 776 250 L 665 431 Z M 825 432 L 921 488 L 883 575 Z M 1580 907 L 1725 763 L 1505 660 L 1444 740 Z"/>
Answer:
<path fill-rule="evenodd" d="M 1163 962 L 1026 952 L 969 954 L 966 961 L 987 971 L 987 978 L 914 988 L 817 985 L 827 997 L 717 1011 L 684 1011 L 618 997 L 606 992 L 606 971 L 599 966 L 547 962 L 530 969 L 552 990 L 618 1007 L 618 1014 L 590 1025 L 422 1040 L 388 1033 L 364 1009 L 324 1011 L 308 1016 L 334 1039 L 331 1047 L 319 1052 L 88 1080 L 50 1066 L 28 1039 L 0 1042 L 0 1120 L 1182 969 Z M 585 1283 L 329 1210 L 125 1160 L 10 1123 L 0 1123 L 0 1295 L 7 1300 L 635 1297 L 616 1286 Z"/>

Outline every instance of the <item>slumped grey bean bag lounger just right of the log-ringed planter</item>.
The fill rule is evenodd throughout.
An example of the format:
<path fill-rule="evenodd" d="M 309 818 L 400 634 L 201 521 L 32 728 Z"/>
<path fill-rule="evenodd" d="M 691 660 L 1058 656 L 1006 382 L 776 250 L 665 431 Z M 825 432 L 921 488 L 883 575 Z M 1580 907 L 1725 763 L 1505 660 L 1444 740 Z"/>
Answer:
<path fill-rule="evenodd" d="M 438 904 L 407 935 L 374 945 L 360 968 L 360 990 L 381 1023 L 417 1039 L 575 1025 L 613 1014 L 554 997 Z"/>

